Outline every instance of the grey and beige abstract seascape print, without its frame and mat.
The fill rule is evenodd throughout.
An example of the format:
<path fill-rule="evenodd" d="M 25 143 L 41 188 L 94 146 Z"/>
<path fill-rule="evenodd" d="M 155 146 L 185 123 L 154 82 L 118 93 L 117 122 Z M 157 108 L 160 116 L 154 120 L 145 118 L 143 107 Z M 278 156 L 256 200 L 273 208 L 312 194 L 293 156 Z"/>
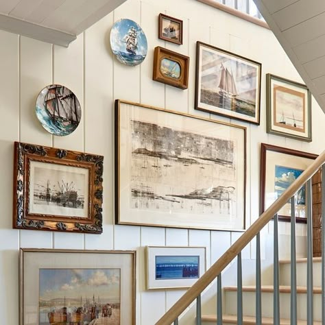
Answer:
<path fill-rule="evenodd" d="M 235 142 L 132 120 L 131 207 L 237 215 Z"/>

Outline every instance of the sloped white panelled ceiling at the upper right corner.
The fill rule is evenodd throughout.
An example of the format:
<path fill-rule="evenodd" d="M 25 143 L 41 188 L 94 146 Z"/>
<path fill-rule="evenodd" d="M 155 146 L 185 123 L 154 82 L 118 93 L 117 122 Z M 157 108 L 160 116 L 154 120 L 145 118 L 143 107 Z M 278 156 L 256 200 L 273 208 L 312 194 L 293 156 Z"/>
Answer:
<path fill-rule="evenodd" d="M 325 112 L 325 1 L 254 2 Z"/>

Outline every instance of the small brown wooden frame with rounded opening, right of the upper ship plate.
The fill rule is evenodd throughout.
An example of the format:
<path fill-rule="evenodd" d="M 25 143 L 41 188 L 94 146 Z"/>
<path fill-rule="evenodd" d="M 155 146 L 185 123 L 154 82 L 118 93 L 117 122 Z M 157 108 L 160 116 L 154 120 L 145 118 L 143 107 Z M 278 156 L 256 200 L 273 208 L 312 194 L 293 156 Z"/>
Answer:
<path fill-rule="evenodd" d="M 180 77 L 178 79 L 167 77 L 160 71 L 160 64 L 163 59 L 172 60 L 180 64 Z M 186 89 L 189 85 L 189 56 L 183 56 L 180 53 L 165 49 L 165 47 L 156 47 L 154 49 L 154 73 L 152 79 L 154 81 L 169 84 L 181 89 Z"/>

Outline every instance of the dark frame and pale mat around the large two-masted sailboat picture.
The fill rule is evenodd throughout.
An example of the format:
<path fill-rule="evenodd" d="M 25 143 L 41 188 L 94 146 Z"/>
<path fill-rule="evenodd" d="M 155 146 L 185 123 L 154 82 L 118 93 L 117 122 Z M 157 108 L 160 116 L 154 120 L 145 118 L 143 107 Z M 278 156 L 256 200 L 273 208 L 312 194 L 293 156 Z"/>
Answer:
<path fill-rule="evenodd" d="M 225 53 L 228 56 L 232 56 L 234 58 L 234 60 L 236 59 L 240 59 L 240 60 L 245 60 L 250 62 L 251 64 L 256 64 L 256 69 L 258 69 L 258 82 L 257 82 L 257 87 L 256 87 L 256 92 L 258 95 L 258 99 L 256 101 L 256 121 L 252 121 L 250 119 L 244 119 L 243 117 L 245 117 L 245 115 L 241 114 L 241 113 L 237 113 L 239 115 L 243 115 L 243 117 L 237 117 L 237 116 L 233 116 L 233 115 L 228 115 L 226 109 L 224 108 L 219 108 L 217 106 L 214 106 L 215 108 L 219 108 L 221 110 L 224 110 L 224 112 L 216 112 L 214 110 L 209 110 L 207 108 L 202 108 L 200 107 L 199 104 L 199 69 L 200 69 L 200 47 L 208 47 L 210 49 L 213 49 L 215 51 L 221 52 L 221 53 Z M 245 121 L 248 123 L 252 123 L 252 124 L 256 124 L 256 125 L 260 125 L 260 115 L 261 115 L 261 71 L 262 71 L 262 64 L 259 62 L 256 62 L 254 60 L 245 58 L 243 56 L 239 56 L 238 54 L 232 53 L 230 51 L 226 51 L 224 49 L 220 49 L 218 47 L 214 47 L 212 45 L 208 45 L 206 43 L 202 43 L 200 41 L 197 41 L 196 43 L 196 64 L 195 64 L 195 110 L 202 110 L 203 112 L 208 112 L 208 113 L 212 113 L 215 115 L 221 115 L 224 117 L 228 117 L 228 119 L 237 119 L 239 121 Z"/>

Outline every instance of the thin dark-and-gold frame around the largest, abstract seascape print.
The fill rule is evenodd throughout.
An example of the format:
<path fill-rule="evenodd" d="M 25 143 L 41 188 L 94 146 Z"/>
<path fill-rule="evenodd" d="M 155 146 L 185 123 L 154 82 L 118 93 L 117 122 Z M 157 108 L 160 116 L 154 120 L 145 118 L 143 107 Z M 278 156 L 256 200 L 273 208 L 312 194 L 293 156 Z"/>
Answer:
<path fill-rule="evenodd" d="M 242 197 L 242 202 L 243 202 L 243 218 L 242 218 L 242 223 L 243 223 L 243 228 L 220 228 L 220 227 L 215 227 L 215 226 L 193 226 L 190 225 L 189 222 L 183 223 L 183 224 L 167 224 L 166 221 L 161 221 L 161 223 L 154 223 L 154 222 L 145 222 L 141 220 L 141 222 L 134 222 L 134 221 L 125 221 L 121 220 L 121 208 L 120 208 L 120 189 L 121 189 L 121 173 L 120 173 L 120 145 L 121 145 L 121 132 L 120 132 L 120 120 L 121 120 L 121 108 L 120 104 L 127 104 L 127 105 L 133 105 L 133 106 L 139 106 L 141 108 L 149 108 L 151 110 L 157 110 L 160 112 L 166 112 L 169 113 L 170 115 L 180 115 L 182 117 L 189 117 L 191 119 L 197 119 L 197 120 L 202 120 L 202 121 L 207 121 L 209 123 L 216 123 L 216 125 L 227 125 L 232 128 L 238 128 L 243 130 L 243 197 Z M 229 230 L 229 231 L 244 231 L 245 230 L 245 222 L 246 222 L 246 178 L 247 178 L 247 132 L 246 132 L 245 126 L 241 125 L 234 125 L 231 123 L 226 123 L 222 121 L 216 121 L 212 119 L 205 119 L 204 117 L 198 117 L 195 115 L 189 115 L 186 113 L 182 112 L 176 112 L 173 110 L 166 110 L 165 108 L 158 108 L 154 106 L 147 106 L 139 103 L 134 103 L 132 101 L 124 101 L 121 99 L 116 99 L 115 100 L 115 223 L 116 224 L 125 224 L 125 225 L 133 225 L 133 226 L 156 226 L 156 227 L 169 227 L 169 228 L 186 228 L 186 229 L 208 229 L 208 230 Z M 164 224 L 165 222 L 165 224 Z"/>

